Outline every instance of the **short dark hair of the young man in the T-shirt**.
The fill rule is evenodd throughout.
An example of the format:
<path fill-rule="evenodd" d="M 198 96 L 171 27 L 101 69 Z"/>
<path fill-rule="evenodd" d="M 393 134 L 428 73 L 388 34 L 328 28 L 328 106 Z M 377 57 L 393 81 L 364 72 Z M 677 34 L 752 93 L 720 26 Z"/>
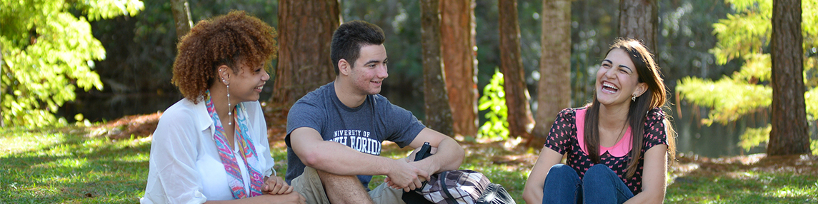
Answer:
<path fill-rule="evenodd" d="M 362 20 L 341 24 L 332 34 L 332 45 L 330 46 L 330 57 L 332 66 L 335 67 L 335 75 L 339 74 L 339 60 L 347 60 L 354 66 L 355 60 L 360 56 L 361 47 L 384 44 L 384 41 L 386 41 L 384 30 L 375 24 Z"/>

